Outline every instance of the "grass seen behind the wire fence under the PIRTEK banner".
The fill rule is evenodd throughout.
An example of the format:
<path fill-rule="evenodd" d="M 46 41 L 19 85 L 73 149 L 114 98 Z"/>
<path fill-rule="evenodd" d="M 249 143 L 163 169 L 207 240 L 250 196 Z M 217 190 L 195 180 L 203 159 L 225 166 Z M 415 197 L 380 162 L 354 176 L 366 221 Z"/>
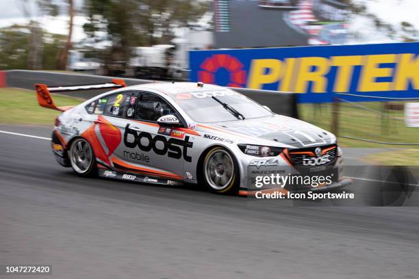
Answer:
<path fill-rule="evenodd" d="M 344 147 L 403 147 L 346 139 L 342 136 L 359 137 L 377 142 L 419 143 L 419 128 L 405 127 L 404 111 L 384 110 L 384 103 L 340 103 L 339 142 Z M 331 104 L 300 104 L 301 119 L 331 131 Z M 382 116 L 385 117 L 382 117 Z M 419 148 L 419 146 L 418 146 Z"/>

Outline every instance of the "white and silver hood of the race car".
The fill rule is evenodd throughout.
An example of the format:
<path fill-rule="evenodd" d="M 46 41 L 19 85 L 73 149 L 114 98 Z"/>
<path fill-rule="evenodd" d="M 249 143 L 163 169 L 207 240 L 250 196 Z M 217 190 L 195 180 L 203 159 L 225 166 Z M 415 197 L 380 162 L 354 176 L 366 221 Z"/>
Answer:
<path fill-rule="evenodd" d="M 281 144 L 303 148 L 335 143 L 335 135 L 307 122 L 288 116 L 272 116 L 250 120 L 216 122 L 212 126 L 244 135 L 240 142 L 248 144 Z M 249 138 L 254 141 L 249 142 Z M 239 137 L 240 139 L 240 137 Z"/>

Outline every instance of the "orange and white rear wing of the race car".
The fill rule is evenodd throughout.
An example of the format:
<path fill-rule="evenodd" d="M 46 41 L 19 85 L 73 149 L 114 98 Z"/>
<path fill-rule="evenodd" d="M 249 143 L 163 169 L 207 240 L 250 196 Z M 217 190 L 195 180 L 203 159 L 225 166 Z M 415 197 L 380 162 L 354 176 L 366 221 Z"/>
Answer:
<path fill-rule="evenodd" d="M 70 92 L 70 91 L 83 91 L 83 90 L 97 90 L 97 89 L 116 89 L 127 86 L 123 79 L 112 79 L 110 83 L 95 83 L 84 85 L 65 85 L 48 87 L 45 84 L 35 84 L 36 96 L 38 103 L 41 107 L 47 109 L 55 109 L 58 111 L 66 111 L 72 107 L 56 107 L 50 93 Z"/>

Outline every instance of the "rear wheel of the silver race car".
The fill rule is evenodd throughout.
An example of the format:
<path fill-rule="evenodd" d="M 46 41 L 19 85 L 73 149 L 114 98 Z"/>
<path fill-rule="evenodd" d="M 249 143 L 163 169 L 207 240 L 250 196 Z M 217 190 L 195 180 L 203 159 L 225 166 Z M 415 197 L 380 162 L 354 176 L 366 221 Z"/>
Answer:
<path fill-rule="evenodd" d="M 97 165 L 92 146 L 89 142 L 79 137 L 71 142 L 68 150 L 71 168 L 79 176 L 96 176 Z"/>

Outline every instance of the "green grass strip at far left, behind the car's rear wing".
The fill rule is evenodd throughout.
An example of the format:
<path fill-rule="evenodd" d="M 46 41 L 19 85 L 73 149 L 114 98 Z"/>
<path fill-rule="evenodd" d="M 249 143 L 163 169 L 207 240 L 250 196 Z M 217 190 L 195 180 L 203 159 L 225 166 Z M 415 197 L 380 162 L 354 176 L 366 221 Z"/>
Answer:
<path fill-rule="evenodd" d="M 83 100 L 53 95 L 57 106 L 78 105 Z M 0 123 L 51 125 L 60 111 L 45 109 L 38 105 L 36 93 L 30 90 L 0 88 Z"/>

